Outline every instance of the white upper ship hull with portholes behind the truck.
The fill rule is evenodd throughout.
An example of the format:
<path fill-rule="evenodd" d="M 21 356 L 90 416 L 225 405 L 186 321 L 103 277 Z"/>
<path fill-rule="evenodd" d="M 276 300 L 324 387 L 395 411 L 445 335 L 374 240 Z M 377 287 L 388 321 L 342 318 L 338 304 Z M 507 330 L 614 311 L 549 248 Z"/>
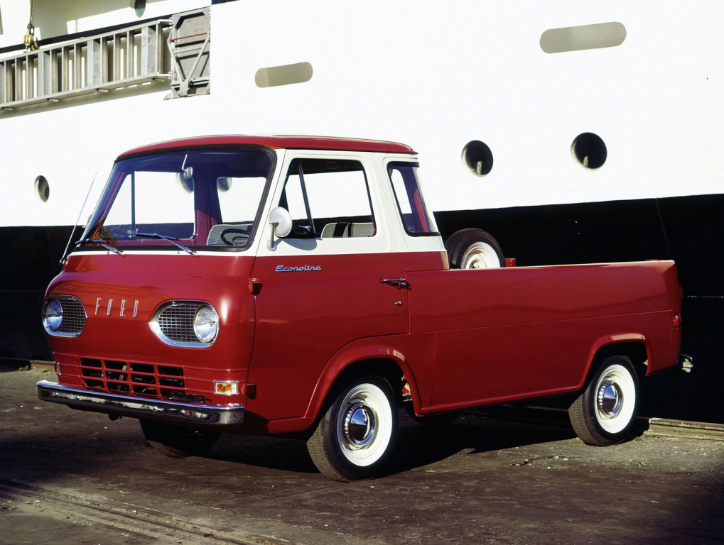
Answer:
<path fill-rule="evenodd" d="M 164 5 L 174 4 L 189 7 Z M 546 30 L 603 22 L 626 27 L 620 46 L 539 45 Z M 724 4 L 707 1 L 215 4 L 209 95 L 163 100 L 169 87 L 157 82 L 0 113 L 0 221 L 72 225 L 122 150 L 222 133 L 404 142 L 421 154 L 434 210 L 720 194 L 723 23 Z M 313 67 L 310 81 L 257 87 L 259 69 L 298 62 Z M 597 171 L 571 155 L 583 132 L 607 146 Z M 492 150 L 488 176 L 463 165 L 471 140 Z"/>

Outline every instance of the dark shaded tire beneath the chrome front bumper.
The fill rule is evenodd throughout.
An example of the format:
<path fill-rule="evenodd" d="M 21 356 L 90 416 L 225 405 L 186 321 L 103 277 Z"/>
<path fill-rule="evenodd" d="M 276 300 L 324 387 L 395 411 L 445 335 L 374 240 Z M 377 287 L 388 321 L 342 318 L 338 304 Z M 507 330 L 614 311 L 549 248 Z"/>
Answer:
<path fill-rule="evenodd" d="M 140 429 L 151 447 L 171 458 L 203 456 L 219 439 L 219 432 L 188 428 L 174 424 L 160 424 L 141 420 Z"/>

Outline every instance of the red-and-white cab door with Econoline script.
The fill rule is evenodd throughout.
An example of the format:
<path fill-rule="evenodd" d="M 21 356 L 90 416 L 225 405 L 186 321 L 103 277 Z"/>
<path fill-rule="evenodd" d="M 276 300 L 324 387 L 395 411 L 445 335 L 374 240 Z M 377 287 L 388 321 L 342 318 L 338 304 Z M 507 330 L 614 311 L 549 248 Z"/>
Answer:
<path fill-rule="evenodd" d="M 303 416 L 335 352 L 409 331 L 408 293 L 395 282 L 400 254 L 374 176 L 364 154 L 285 154 L 271 204 L 290 211 L 292 232 L 271 249 L 267 223 L 253 266 L 261 289 L 248 419 Z"/>

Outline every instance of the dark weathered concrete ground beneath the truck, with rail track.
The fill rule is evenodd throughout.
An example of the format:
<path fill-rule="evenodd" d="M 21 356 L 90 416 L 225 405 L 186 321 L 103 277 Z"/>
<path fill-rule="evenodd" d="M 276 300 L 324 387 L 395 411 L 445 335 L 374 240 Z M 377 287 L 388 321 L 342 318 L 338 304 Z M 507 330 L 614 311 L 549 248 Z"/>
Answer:
<path fill-rule="evenodd" d="M 720 440 L 596 448 L 565 426 L 405 417 L 390 473 L 342 484 L 291 439 L 166 458 L 133 419 L 38 400 L 53 376 L 0 372 L 0 544 L 724 543 Z"/>

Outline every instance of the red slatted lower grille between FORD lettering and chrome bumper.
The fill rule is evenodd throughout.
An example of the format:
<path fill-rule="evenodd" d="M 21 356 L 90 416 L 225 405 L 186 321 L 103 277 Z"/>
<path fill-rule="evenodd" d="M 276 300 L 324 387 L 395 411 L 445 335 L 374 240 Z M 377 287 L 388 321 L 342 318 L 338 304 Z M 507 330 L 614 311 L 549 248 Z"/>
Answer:
<path fill-rule="evenodd" d="M 182 367 L 81 358 L 83 382 L 93 390 L 153 398 L 187 398 Z"/>

